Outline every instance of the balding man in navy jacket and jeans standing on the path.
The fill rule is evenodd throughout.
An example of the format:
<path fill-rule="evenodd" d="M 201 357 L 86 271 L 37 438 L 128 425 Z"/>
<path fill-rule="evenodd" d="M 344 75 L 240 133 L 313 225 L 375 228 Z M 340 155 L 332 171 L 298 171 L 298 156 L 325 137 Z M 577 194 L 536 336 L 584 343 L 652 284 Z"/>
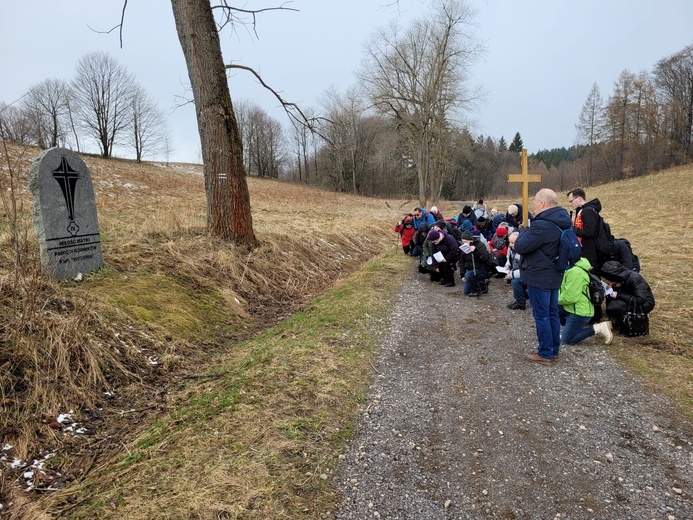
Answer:
<path fill-rule="evenodd" d="M 570 215 L 558 206 L 553 190 L 544 188 L 534 196 L 534 219 L 520 230 L 515 251 L 522 255 L 520 280 L 527 284 L 529 303 L 537 329 L 537 352 L 525 354 L 534 363 L 552 365 L 561 347 L 561 321 L 558 317 L 558 289 L 563 273 L 554 266 L 561 230 L 572 225 Z"/>

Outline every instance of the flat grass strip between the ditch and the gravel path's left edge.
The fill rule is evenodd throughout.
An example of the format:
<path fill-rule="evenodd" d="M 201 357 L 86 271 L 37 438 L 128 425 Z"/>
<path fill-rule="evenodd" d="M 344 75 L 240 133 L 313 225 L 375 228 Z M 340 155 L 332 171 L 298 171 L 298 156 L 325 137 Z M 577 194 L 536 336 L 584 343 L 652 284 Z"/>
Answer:
<path fill-rule="evenodd" d="M 71 490 L 70 518 L 317 518 L 353 433 L 410 264 L 387 255 L 309 307 L 220 354 L 171 412 Z"/>

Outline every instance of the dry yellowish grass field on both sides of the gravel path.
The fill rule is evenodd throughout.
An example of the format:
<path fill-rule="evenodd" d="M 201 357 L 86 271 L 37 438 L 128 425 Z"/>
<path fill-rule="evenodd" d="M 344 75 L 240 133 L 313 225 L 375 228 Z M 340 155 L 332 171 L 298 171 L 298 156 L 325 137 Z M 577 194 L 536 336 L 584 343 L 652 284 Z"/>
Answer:
<path fill-rule="evenodd" d="M 16 177 L 19 205 L 5 206 L 2 229 L 2 339 L 11 346 L 2 427 L 13 455 L 59 453 L 49 469 L 71 483 L 26 494 L 3 473 L 11 515 L 307 519 L 333 510 L 329 477 L 410 265 L 392 226 L 414 203 L 251 178 L 261 245 L 248 254 L 206 236 L 198 166 L 85 157 L 105 267 L 57 284 L 29 268 L 36 246 L 22 176 L 36 154 L 15 149 L 3 168 Z M 691 175 L 682 167 L 587 190 L 633 244 L 657 299 L 650 336 L 617 337 L 611 351 L 689 418 L 693 289 L 681 221 Z M 446 216 L 460 209 L 438 206 Z M 32 392 L 7 391 L 20 374 L 34 378 Z M 116 398 L 105 400 L 105 388 Z M 46 426 L 69 409 L 85 420 L 102 409 L 96 435 L 66 440 Z"/>

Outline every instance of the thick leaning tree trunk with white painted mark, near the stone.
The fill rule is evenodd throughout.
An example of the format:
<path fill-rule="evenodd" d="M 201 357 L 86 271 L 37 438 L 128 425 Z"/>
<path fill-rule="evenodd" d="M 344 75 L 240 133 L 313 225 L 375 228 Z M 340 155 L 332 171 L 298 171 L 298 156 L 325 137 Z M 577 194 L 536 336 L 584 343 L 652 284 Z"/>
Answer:
<path fill-rule="evenodd" d="M 253 246 L 256 241 L 243 145 L 212 8 L 209 0 L 171 0 L 171 5 L 195 98 L 207 228 L 224 240 Z"/>

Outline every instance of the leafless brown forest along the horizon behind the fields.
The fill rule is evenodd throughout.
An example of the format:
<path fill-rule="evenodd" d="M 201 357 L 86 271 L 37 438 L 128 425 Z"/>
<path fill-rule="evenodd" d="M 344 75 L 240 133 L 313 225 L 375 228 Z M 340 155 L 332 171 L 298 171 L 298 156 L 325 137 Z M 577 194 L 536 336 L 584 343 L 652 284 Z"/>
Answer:
<path fill-rule="evenodd" d="M 459 23 L 467 16 L 448 20 Z M 452 22 L 447 36 L 454 35 Z M 512 195 L 516 187 L 508 185 L 507 174 L 519 172 L 521 131 L 510 142 L 504 136 L 475 135 L 448 110 L 469 107 L 454 107 L 456 101 L 444 97 L 428 107 L 422 120 L 418 108 L 411 107 L 422 106 L 416 96 L 426 97 L 423 91 L 403 92 L 399 97 L 406 99 L 397 110 L 378 108 L 391 108 L 392 99 L 383 99 L 382 93 L 399 88 L 391 82 L 397 70 L 380 77 L 374 73 L 391 49 L 407 43 L 412 54 L 430 53 L 428 65 L 412 69 L 412 82 L 430 75 L 441 53 L 459 52 L 459 47 L 435 45 L 418 49 L 422 31 L 433 29 L 424 24 L 401 37 L 381 35 L 390 38 L 385 38 L 390 47 L 370 47 L 373 60 L 360 73 L 361 87 L 327 92 L 322 106 L 301 109 L 303 121 L 290 118 L 288 129 L 252 102 L 237 102 L 246 171 L 365 196 L 437 201 Z M 425 38 L 443 36 L 429 32 Z M 476 48 L 469 43 L 462 48 L 467 61 L 457 66 L 464 69 Z M 445 88 L 470 94 L 467 80 L 455 73 Z M 412 127 L 417 127 L 413 134 Z M 86 152 L 92 143 L 102 157 L 120 150 L 142 160 L 167 154 L 166 132 L 156 101 L 105 54 L 86 55 L 70 82 L 48 79 L 19 103 L 0 102 L 0 138 L 18 144 Z M 693 156 L 692 136 L 693 45 L 662 58 L 650 72 L 624 70 L 606 100 L 595 83 L 576 123 L 576 142 L 530 153 L 529 170 L 558 192 L 622 180 L 687 163 Z M 415 143 L 423 141 L 425 147 L 418 148 Z"/>

